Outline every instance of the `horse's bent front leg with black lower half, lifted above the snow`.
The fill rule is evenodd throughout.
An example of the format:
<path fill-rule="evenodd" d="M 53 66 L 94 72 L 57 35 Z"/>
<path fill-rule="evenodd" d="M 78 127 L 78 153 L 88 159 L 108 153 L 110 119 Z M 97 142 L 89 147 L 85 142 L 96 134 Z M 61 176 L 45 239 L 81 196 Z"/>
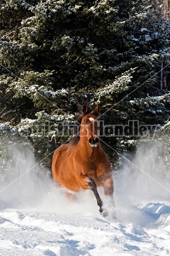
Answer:
<path fill-rule="evenodd" d="M 94 196 L 97 200 L 97 205 L 100 207 L 99 212 L 103 217 L 108 216 L 108 212 L 103 208 L 103 201 L 99 196 L 99 193 L 97 191 L 97 186 L 94 181 L 92 181 L 88 176 L 86 175 L 80 175 L 79 181 L 83 189 L 90 189 L 93 191 Z"/>

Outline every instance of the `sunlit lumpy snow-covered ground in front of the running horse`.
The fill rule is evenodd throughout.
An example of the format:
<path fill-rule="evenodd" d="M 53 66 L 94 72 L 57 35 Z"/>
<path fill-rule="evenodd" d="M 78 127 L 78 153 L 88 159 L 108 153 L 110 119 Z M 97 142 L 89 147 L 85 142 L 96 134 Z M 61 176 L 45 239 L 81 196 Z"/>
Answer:
<path fill-rule="evenodd" d="M 168 255 L 170 206 L 148 203 L 150 227 L 98 216 L 7 209 L 0 212 L 0 255 Z"/>

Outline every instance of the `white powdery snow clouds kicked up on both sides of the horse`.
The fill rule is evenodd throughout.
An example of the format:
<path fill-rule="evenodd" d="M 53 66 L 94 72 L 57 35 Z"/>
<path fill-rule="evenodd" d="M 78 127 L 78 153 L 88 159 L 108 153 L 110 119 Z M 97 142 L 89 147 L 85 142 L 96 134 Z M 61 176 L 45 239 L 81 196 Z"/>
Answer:
<path fill-rule="evenodd" d="M 123 167 L 117 172 L 113 170 L 117 218 L 124 224 L 145 225 L 152 220 L 141 209 L 142 204 L 155 200 L 170 202 L 170 177 L 164 172 L 161 142 L 159 147 L 153 143 L 150 148 L 141 143 L 133 159 L 127 154 L 123 157 L 126 159 Z M 36 163 L 30 149 L 20 151 L 16 145 L 9 144 L 6 166 L 11 172 L 4 171 L 1 179 L 0 209 L 34 209 L 102 218 L 91 191 L 77 193 L 77 202 L 68 201 L 65 189 L 53 181 L 50 170 Z M 99 194 L 105 204 L 103 189 L 99 189 Z"/>

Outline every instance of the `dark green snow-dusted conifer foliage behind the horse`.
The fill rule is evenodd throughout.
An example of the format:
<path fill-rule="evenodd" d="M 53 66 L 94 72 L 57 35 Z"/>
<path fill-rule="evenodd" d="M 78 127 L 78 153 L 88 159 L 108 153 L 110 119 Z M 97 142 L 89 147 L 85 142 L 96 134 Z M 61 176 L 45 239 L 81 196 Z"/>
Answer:
<path fill-rule="evenodd" d="M 14 138 L 31 141 L 40 159 L 65 143 L 58 123 L 71 129 L 77 100 L 99 103 L 108 125 L 169 124 L 170 92 L 154 85 L 156 65 L 170 59 L 170 22 L 151 23 L 147 13 L 145 0 L 1 0 L 3 158 Z M 131 137 L 102 140 L 118 151 L 136 145 Z"/>

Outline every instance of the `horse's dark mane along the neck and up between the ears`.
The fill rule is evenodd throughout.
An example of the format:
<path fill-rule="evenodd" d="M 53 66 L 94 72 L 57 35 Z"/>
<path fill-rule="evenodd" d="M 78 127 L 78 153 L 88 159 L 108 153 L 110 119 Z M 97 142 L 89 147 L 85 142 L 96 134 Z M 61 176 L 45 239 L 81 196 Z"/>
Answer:
<path fill-rule="evenodd" d="M 76 125 L 74 127 L 74 137 L 71 140 L 71 145 L 72 146 L 76 146 L 79 143 L 79 140 L 80 140 L 79 130 L 80 130 L 80 125 L 81 125 L 81 122 L 82 122 L 82 118 L 84 116 L 86 116 L 87 114 L 95 115 L 96 117 L 99 116 L 99 113 L 90 109 L 89 106 L 87 106 L 88 110 L 85 113 L 82 111 L 82 106 L 81 105 L 78 105 L 78 106 L 79 106 L 80 113 L 79 113 L 79 116 L 77 117 L 77 122 L 76 122 Z"/>

